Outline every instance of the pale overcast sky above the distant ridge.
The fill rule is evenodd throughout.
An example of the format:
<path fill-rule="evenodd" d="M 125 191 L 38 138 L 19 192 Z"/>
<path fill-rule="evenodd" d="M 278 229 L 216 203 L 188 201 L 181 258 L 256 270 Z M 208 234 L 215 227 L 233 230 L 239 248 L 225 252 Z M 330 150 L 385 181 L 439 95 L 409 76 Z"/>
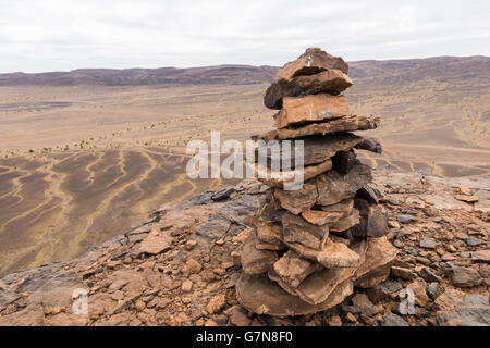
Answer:
<path fill-rule="evenodd" d="M 489 0 L 0 0 L 0 73 L 490 55 Z"/>

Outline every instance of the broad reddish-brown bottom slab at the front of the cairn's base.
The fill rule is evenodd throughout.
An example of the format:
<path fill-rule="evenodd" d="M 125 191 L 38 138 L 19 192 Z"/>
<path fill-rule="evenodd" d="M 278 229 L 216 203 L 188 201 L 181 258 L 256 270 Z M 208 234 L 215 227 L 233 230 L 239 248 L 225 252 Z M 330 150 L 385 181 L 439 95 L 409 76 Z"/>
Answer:
<path fill-rule="evenodd" d="M 236 283 L 236 298 L 247 310 L 278 318 L 306 315 L 324 311 L 343 302 L 353 293 L 350 281 L 340 284 L 322 303 L 310 304 L 287 294 L 265 274 L 242 274 Z"/>

